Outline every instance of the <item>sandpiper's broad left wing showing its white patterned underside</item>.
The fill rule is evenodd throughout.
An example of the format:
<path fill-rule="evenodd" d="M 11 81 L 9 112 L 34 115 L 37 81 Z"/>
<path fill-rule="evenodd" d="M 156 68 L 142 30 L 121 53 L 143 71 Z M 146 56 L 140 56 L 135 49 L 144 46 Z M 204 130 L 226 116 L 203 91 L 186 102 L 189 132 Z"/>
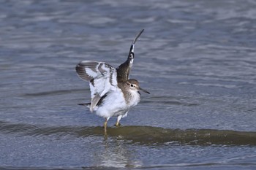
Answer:
<path fill-rule="evenodd" d="M 78 76 L 89 81 L 91 90 L 91 112 L 97 103 L 110 90 L 116 90 L 116 69 L 108 63 L 98 61 L 81 61 L 75 68 Z"/>

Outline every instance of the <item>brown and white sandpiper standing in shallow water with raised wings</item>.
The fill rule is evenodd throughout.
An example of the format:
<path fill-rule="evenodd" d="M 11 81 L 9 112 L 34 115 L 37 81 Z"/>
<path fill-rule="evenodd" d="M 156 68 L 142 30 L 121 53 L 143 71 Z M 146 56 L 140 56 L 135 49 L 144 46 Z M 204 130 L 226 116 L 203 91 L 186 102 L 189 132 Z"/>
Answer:
<path fill-rule="evenodd" d="M 117 117 L 116 126 L 120 126 L 122 117 L 127 117 L 129 109 L 135 107 L 140 101 L 140 88 L 138 80 L 129 79 L 129 72 L 134 60 L 134 48 L 141 30 L 135 37 L 129 50 L 127 61 L 117 69 L 108 63 L 99 61 L 80 61 L 76 66 L 76 72 L 82 80 L 89 81 L 91 90 L 91 102 L 84 105 L 90 108 L 96 115 L 105 117 L 104 129 L 110 117 Z"/>

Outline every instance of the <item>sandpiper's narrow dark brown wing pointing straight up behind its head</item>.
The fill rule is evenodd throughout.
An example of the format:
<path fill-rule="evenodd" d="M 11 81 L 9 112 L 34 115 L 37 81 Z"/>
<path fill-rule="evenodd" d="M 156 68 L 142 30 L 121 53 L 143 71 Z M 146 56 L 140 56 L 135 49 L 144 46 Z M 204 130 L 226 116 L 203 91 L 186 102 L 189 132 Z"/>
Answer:
<path fill-rule="evenodd" d="M 129 80 L 129 71 L 132 68 L 132 63 L 133 63 L 133 59 L 134 59 L 134 50 L 135 50 L 135 42 L 137 41 L 137 39 L 139 38 L 139 36 L 143 33 L 144 29 L 141 30 L 137 36 L 135 37 L 135 39 L 133 39 L 132 41 L 132 45 L 129 49 L 129 55 L 127 58 L 127 61 L 125 61 L 124 63 L 122 63 L 120 66 L 118 66 L 118 68 L 116 69 L 117 71 L 117 80 L 118 82 L 124 82 Z"/>

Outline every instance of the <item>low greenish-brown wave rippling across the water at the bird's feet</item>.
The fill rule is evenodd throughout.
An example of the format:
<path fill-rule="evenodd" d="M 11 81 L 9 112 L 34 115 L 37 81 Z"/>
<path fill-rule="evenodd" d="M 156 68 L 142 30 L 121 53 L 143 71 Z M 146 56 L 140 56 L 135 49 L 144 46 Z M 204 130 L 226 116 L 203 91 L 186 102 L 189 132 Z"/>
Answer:
<path fill-rule="evenodd" d="M 61 137 L 109 136 L 125 139 L 135 144 L 225 144 L 256 145 L 256 132 L 216 129 L 171 129 L 152 126 L 127 125 L 108 127 L 104 134 L 102 127 L 94 126 L 44 126 L 0 121 L 1 134 L 17 136 Z"/>

